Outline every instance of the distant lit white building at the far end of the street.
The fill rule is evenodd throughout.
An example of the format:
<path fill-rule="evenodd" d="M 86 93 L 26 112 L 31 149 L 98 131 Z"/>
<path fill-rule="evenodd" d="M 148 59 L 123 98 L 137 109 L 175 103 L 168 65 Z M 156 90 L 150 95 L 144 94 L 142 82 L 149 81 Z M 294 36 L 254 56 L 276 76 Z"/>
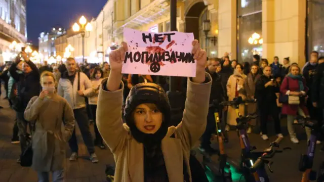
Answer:
<path fill-rule="evenodd" d="M 42 32 L 38 37 L 38 53 L 42 54 L 45 60 L 56 57 L 55 40 L 65 33 L 65 29 L 61 27 L 53 27 L 50 32 Z"/>

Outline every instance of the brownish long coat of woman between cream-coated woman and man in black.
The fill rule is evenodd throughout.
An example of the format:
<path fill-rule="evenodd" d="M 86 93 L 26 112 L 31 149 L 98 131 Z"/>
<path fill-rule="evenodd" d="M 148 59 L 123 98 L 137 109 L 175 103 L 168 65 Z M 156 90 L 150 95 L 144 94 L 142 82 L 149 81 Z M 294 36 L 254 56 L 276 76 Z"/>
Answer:
<path fill-rule="evenodd" d="M 255 84 L 257 83 L 258 79 L 261 77 L 260 74 L 257 74 L 255 76 L 255 79 L 253 80 L 252 73 L 249 73 L 248 76 L 245 78 L 245 89 L 247 92 L 248 99 L 254 99 L 254 93 L 255 93 Z M 257 103 L 249 103 L 247 105 L 247 113 L 248 114 L 254 114 L 257 112 Z M 257 125 L 257 119 L 251 119 L 250 124 L 255 126 Z"/>

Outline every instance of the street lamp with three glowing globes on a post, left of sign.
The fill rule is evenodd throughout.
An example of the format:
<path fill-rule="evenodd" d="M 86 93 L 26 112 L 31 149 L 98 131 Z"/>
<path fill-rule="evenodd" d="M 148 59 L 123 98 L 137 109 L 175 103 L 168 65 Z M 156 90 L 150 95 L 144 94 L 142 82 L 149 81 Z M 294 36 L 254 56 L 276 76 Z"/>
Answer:
<path fill-rule="evenodd" d="M 87 22 L 87 19 L 85 16 L 82 16 L 79 19 L 79 23 L 74 23 L 72 26 L 72 29 L 74 32 L 80 32 L 82 36 L 82 64 L 85 63 L 85 36 L 86 32 L 92 31 L 92 25 Z"/>

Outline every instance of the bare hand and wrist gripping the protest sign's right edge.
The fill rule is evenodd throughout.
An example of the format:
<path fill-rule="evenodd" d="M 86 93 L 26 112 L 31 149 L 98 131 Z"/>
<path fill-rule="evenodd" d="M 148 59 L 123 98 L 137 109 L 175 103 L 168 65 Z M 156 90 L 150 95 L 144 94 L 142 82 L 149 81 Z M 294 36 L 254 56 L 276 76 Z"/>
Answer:
<path fill-rule="evenodd" d="M 202 83 L 205 81 L 205 66 L 207 63 L 207 54 L 205 50 L 200 48 L 198 40 L 192 41 L 192 54 L 193 58 L 196 60 L 196 77 L 193 78 L 194 82 Z"/>

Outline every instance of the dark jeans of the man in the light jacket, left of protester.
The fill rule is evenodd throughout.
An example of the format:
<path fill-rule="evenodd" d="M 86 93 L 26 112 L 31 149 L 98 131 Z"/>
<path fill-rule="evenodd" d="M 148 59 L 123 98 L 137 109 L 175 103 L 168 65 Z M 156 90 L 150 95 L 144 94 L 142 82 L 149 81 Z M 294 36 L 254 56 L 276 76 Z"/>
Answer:
<path fill-rule="evenodd" d="M 85 142 L 85 145 L 87 146 L 89 154 L 93 154 L 95 152 L 95 147 L 92 140 L 92 135 L 90 132 L 90 123 L 89 118 L 87 114 L 86 108 L 80 108 L 80 109 L 74 109 L 74 118 L 77 122 L 77 125 L 79 126 L 83 141 Z M 72 152 L 78 151 L 77 147 L 77 140 L 75 135 L 75 127 L 71 136 L 71 139 L 69 140 L 69 146 L 71 148 Z"/>

